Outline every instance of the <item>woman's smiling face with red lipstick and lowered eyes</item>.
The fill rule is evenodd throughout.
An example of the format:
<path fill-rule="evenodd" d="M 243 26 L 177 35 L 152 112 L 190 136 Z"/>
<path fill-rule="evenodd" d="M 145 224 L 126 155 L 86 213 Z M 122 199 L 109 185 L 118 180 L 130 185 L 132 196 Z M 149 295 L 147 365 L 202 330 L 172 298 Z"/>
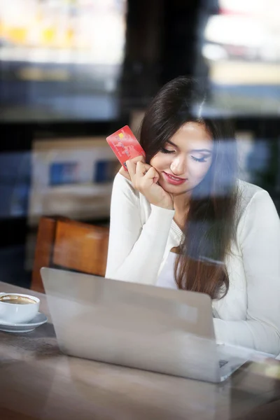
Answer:
<path fill-rule="evenodd" d="M 186 123 L 151 159 L 158 183 L 174 195 L 193 190 L 209 171 L 214 141 L 202 123 Z"/>

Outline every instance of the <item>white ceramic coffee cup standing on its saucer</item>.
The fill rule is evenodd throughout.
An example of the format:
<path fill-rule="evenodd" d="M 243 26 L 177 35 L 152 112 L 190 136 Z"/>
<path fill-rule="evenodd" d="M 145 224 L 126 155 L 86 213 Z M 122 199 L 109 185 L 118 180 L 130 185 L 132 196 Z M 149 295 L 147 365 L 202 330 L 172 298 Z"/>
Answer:
<path fill-rule="evenodd" d="M 23 295 L 22 293 L 0 293 L 0 297 L 5 295 L 29 297 L 29 299 L 34 300 L 34 303 L 16 304 L 9 303 L 8 300 L 6 302 L 0 300 L 0 322 L 26 323 L 31 321 L 38 313 L 40 306 L 38 297 Z"/>

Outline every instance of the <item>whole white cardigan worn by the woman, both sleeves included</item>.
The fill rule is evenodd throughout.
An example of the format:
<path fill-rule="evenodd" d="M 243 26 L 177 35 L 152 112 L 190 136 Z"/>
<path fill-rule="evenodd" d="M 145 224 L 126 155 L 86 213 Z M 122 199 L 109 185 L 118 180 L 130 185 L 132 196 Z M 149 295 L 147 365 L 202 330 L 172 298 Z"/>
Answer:
<path fill-rule="evenodd" d="M 218 342 L 280 353 L 280 221 L 269 194 L 239 181 L 237 244 L 225 260 L 227 295 L 213 300 Z M 155 285 L 182 232 L 174 211 L 151 205 L 117 174 L 106 277 Z"/>

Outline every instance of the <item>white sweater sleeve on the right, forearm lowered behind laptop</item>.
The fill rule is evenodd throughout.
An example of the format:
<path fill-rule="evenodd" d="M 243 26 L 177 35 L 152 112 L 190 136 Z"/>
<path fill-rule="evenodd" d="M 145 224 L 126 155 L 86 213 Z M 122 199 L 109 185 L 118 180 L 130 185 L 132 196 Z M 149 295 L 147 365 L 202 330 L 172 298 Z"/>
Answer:
<path fill-rule="evenodd" d="M 216 339 L 276 355 L 280 352 L 280 221 L 265 190 L 253 196 L 241 219 L 246 321 L 214 318 Z"/>

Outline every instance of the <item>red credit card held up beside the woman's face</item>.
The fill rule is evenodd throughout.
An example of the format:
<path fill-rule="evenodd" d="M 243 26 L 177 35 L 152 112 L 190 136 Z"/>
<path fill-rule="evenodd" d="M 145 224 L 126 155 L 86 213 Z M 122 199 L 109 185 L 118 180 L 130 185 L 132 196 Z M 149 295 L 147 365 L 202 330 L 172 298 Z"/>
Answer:
<path fill-rule="evenodd" d="M 111 136 L 107 137 L 106 140 L 126 171 L 127 168 L 125 162 L 127 160 L 136 158 L 140 155 L 146 156 L 143 148 L 139 144 L 139 141 L 134 136 L 128 125 L 125 125 L 125 127 L 120 128 L 120 130 L 111 134 Z"/>

